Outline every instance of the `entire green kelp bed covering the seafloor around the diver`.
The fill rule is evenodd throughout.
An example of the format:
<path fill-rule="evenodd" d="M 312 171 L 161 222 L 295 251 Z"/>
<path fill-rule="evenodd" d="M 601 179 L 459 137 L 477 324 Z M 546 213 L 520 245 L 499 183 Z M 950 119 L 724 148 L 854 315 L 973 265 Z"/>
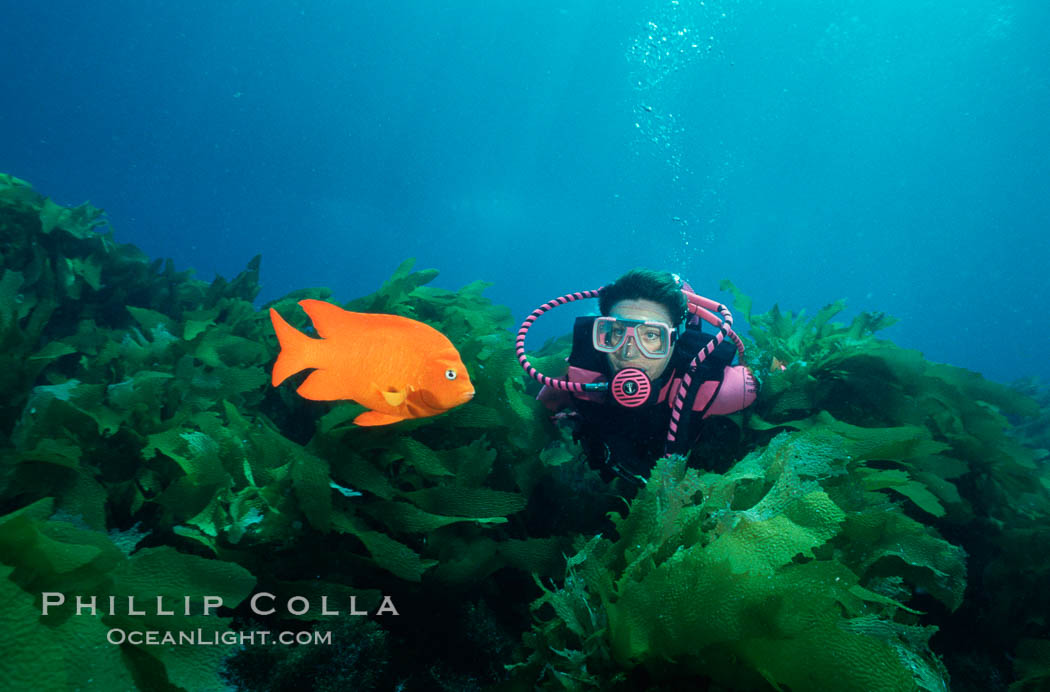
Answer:
<path fill-rule="evenodd" d="M 1029 424 L 1045 411 L 875 338 L 885 317 L 753 315 L 754 361 L 790 365 L 733 417 L 746 452 L 723 475 L 662 462 L 629 510 L 616 502 L 615 533 L 593 537 L 583 518 L 610 488 L 533 400 L 483 282 L 438 289 L 410 260 L 343 303 L 441 330 L 477 389 L 447 414 L 360 428 L 354 403 L 269 385 L 258 272 L 197 280 L 113 242 L 99 210 L 0 177 L 4 681 L 472 689 L 501 680 L 523 632 L 514 675 L 549 687 L 1045 677 L 1048 479 Z M 303 297 L 331 293 L 274 303 L 299 328 L 284 308 Z M 252 589 L 278 612 L 251 612 Z M 340 638 L 248 647 L 224 668 L 223 647 L 105 643 L 120 613 L 41 618 L 45 590 L 220 594 L 232 610 L 208 631 Z M 376 614 L 384 595 L 399 615 Z M 280 607 L 292 596 L 311 608 Z M 370 614 L 348 620 L 352 603 Z"/>

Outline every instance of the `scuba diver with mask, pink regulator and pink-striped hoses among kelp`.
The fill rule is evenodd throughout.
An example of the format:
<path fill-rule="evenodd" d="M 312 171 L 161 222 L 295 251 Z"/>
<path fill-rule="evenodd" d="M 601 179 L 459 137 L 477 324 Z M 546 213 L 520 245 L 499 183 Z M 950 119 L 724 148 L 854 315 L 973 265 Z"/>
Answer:
<path fill-rule="evenodd" d="M 525 355 L 525 335 L 543 313 L 597 298 L 601 315 L 578 317 L 564 379 L 538 372 Z M 716 315 L 717 313 L 717 315 Z M 718 328 L 700 330 L 701 321 Z M 756 397 L 743 364 L 743 344 L 724 306 L 692 292 L 677 275 L 635 269 L 596 291 L 555 298 L 518 332 L 517 355 L 543 383 L 538 399 L 555 420 L 569 421 L 591 466 L 634 489 L 656 459 L 687 454 L 710 416 L 735 413 Z"/>

